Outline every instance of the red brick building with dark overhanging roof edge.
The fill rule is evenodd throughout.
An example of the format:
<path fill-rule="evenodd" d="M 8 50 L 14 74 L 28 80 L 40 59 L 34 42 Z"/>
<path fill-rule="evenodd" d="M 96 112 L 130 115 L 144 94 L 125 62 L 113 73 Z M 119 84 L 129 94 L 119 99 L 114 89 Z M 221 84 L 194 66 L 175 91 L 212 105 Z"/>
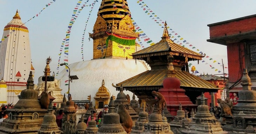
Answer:
<path fill-rule="evenodd" d="M 252 89 L 256 88 L 256 14 L 207 26 L 210 29 L 207 41 L 227 46 L 229 96 L 236 104 L 244 68 L 248 70 Z"/>

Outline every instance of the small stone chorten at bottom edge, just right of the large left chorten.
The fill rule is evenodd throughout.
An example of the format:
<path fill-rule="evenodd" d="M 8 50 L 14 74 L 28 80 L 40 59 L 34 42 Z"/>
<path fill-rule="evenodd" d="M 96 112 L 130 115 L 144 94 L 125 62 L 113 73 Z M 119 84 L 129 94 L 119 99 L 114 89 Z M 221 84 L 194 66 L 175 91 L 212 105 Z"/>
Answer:
<path fill-rule="evenodd" d="M 53 114 L 52 102 L 50 102 L 48 113 L 43 117 L 43 123 L 38 134 L 60 134 L 60 132 L 56 123 L 56 116 Z"/>

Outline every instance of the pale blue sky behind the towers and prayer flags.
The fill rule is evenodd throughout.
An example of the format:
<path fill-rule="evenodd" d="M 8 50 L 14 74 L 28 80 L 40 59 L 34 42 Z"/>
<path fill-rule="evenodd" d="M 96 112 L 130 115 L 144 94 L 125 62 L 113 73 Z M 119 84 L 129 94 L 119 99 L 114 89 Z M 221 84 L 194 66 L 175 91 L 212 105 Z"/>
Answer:
<path fill-rule="evenodd" d="M 70 19 L 73 15 L 73 10 L 79 0 L 0 0 L 0 37 L 2 37 L 4 27 L 12 20 L 16 10 L 20 12 L 21 20 L 29 30 L 29 40 L 31 46 L 31 56 L 33 66 L 35 68 L 35 84 L 38 84 L 38 77 L 43 75 L 45 68 L 45 60 L 48 56 L 52 57 L 50 63 L 51 71 L 57 72 L 59 53 L 63 38 L 66 37 L 66 31 Z M 81 5 L 87 0 L 83 0 Z M 89 6 L 82 9 L 75 23 L 72 26 L 69 40 L 69 64 L 82 61 L 81 56 L 81 38 L 85 29 L 86 21 L 88 24 L 85 31 L 83 55 L 84 60 L 88 61 L 93 58 L 93 41 L 88 40 L 88 33 L 92 33 L 92 29 L 96 20 L 97 11 L 101 0 L 96 2 L 92 12 Z M 228 67 L 227 63 L 227 47 L 220 44 L 210 43 L 209 27 L 207 24 L 221 22 L 225 20 L 235 19 L 238 17 L 248 16 L 256 13 L 255 0 L 142 0 L 144 3 L 139 5 L 138 0 L 127 0 L 132 17 L 142 31 L 154 42 L 161 40 L 163 28 L 156 23 L 157 20 L 167 21 L 168 26 L 172 29 L 169 33 L 180 35 L 183 40 L 189 42 L 183 43 L 185 47 L 196 52 L 203 52 L 209 58 L 203 58 L 205 62 L 199 61 L 190 62 L 195 65 L 196 70 L 201 73 L 221 74 L 223 73 L 221 63 L 222 59 L 224 66 Z M 140 3 L 142 2 L 140 1 Z M 51 3 L 48 7 L 48 3 Z M 89 0 L 85 5 L 90 5 L 93 0 Z M 159 19 L 152 19 L 145 7 L 146 4 L 149 10 L 152 10 L 154 15 Z M 46 7 L 46 8 L 45 8 Z M 45 9 L 43 9 L 45 8 Z M 42 10 L 43 9 L 43 10 Z M 79 7 L 80 9 L 80 7 Z M 39 14 L 39 12 L 42 12 Z M 36 14 L 39 14 L 36 16 Z M 174 39 L 174 38 L 173 38 Z M 178 38 L 177 38 L 178 39 Z M 178 39 L 179 40 L 179 39 Z M 145 47 L 149 44 L 142 42 Z M 183 45 L 182 44 L 182 45 Z M 192 46 L 189 46 L 189 45 Z M 195 48 L 193 48 L 195 47 Z M 199 51 L 198 51 L 198 50 Z M 60 63 L 63 63 L 64 55 L 61 55 Z M 212 60 L 209 60 L 212 58 Z M 213 63 L 216 61 L 215 63 Z M 208 63 L 208 64 L 206 64 Z M 214 67 L 212 69 L 211 66 Z M 60 66 L 60 71 L 64 67 Z M 191 69 L 191 68 L 190 68 Z M 221 72 L 215 71 L 215 69 Z M 224 70 L 228 73 L 228 69 Z M 71 75 L 76 75 L 72 74 Z M 218 75 L 220 76 L 220 75 Z"/>

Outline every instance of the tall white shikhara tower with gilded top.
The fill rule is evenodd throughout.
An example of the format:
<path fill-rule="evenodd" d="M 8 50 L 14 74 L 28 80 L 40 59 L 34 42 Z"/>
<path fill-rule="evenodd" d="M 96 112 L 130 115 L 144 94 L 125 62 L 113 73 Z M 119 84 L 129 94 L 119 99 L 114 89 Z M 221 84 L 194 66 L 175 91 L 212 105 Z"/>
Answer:
<path fill-rule="evenodd" d="M 18 95 L 26 89 L 29 71 L 34 72 L 28 28 L 22 23 L 18 10 L 5 26 L 0 44 L 0 78 L 7 84 L 7 103 L 16 104 Z"/>

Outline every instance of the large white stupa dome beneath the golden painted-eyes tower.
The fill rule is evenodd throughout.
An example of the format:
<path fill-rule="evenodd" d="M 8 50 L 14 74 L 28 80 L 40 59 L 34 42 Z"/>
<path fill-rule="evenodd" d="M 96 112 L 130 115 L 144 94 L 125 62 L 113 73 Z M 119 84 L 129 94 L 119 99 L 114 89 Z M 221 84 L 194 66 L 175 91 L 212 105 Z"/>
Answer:
<path fill-rule="evenodd" d="M 64 68 L 64 67 L 63 67 Z M 70 82 L 70 91 L 72 100 L 87 100 L 87 96 L 92 96 L 92 101 L 95 104 L 95 94 L 101 87 L 102 80 L 105 81 L 105 87 L 108 89 L 110 96 L 117 96 L 119 91 L 116 91 L 112 83 L 117 84 L 128 78 L 136 76 L 144 71 L 150 70 L 150 66 L 145 61 L 134 59 L 93 59 L 90 61 L 76 62 L 69 65 L 70 75 L 76 75 L 79 79 Z M 68 72 L 62 70 L 56 77 L 61 80 L 62 94 L 68 91 Z M 124 91 L 130 97 L 133 93 Z"/>

